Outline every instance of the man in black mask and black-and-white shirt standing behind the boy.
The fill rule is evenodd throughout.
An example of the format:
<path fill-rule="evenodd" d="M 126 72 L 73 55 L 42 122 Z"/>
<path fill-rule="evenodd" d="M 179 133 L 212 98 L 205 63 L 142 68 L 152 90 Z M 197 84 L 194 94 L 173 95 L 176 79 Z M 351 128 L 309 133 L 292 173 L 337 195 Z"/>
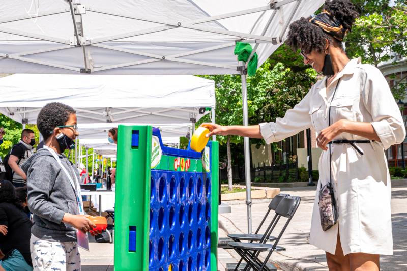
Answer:
<path fill-rule="evenodd" d="M 23 187 L 27 185 L 27 175 L 21 170 L 21 166 L 33 155 L 34 145 L 34 131 L 24 129 L 21 133 L 21 140 L 11 148 L 8 164 L 14 172 L 13 185 L 15 187 Z"/>

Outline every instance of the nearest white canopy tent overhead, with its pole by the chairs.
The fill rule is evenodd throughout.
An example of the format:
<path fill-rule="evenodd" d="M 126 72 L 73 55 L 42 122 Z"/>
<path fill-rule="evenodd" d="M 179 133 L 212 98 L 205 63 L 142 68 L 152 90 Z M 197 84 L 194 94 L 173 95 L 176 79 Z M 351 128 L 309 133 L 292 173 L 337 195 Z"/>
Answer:
<path fill-rule="evenodd" d="M 289 24 L 323 2 L 7 2 L 0 10 L 0 73 L 241 74 L 248 125 L 247 63 L 237 61 L 235 42 L 254 44 L 260 66 L 284 42 Z M 251 233 L 248 138 L 244 146 Z"/>

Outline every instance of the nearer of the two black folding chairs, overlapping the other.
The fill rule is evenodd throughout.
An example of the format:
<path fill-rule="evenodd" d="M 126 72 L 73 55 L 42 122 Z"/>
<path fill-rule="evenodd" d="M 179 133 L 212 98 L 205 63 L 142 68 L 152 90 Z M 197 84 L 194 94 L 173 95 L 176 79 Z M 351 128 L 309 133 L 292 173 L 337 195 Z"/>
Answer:
<path fill-rule="evenodd" d="M 253 268 L 254 270 L 268 270 L 270 271 L 271 268 L 266 266 L 267 261 L 269 260 L 273 251 L 278 251 L 278 242 L 281 239 L 285 229 L 287 228 L 289 222 L 293 218 L 294 214 L 297 211 L 298 206 L 300 205 L 301 198 L 298 196 L 286 196 L 281 199 L 280 203 L 278 204 L 275 212 L 276 216 L 273 218 L 269 228 L 266 230 L 263 237 L 259 243 L 243 243 L 243 242 L 229 242 L 228 245 L 232 247 L 242 258 L 247 262 L 247 266 L 245 270 L 249 267 Z M 266 244 L 266 241 L 269 239 L 271 230 L 274 229 L 276 224 L 278 223 L 281 217 L 287 218 L 282 230 L 276 237 L 274 244 Z M 264 262 L 260 260 L 258 257 L 260 252 L 268 251 Z M 238 266 L 235 270 L 237 270 Z"/>

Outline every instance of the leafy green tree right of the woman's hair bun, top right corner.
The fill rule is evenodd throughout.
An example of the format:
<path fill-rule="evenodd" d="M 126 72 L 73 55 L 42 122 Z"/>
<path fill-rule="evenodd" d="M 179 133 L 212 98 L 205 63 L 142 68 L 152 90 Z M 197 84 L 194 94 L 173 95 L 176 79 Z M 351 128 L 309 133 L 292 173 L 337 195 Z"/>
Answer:
<path fill-rule="evenodd" d="M 394 54 L 407 55 L 407 5 L 405 0 L 353 0 L 360 17 L 346 38 L 350 57 L 362 57 L 363 62 L 379 66 L 394 60 Z M 394 61 L 393 64 L 396 64 Z M 407 76 L 393 87 L 395 99 L 405 97 Z"/>

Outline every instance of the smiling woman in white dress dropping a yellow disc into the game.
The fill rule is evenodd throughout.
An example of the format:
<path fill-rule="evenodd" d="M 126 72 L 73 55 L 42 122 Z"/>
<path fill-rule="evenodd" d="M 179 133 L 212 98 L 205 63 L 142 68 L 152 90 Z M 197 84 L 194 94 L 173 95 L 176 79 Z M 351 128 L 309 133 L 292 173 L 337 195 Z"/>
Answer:
<path fill-rule="evenodd" d="M 348 59 L 342 49 L 342 39 L 358 15 L 354 6 L 348 0 L 334 0 L 326 2 L 324 9 L 290 25 L 287 44 L 301 49 L 304 63 L 326 75 L 299 104 L 276 122 L 247 127 L 202 125 L 211 130 L 207 136 L 263 137 L 267 143 L 314 127 L 318 147 L 324 150 L 318 188 L 332 176 L 339 217 L 338 223 L 323 231 L 315 200 L 310 243 L 326 251 L 330 270 L 379 270 L 380 254 L 393 254 L 391 184 L 384 149 L 403 142 L 405 128 L 382 73 L 361 64 L 360 58 Z M 329 144 L 333 140 L 336 143 Z"/>

